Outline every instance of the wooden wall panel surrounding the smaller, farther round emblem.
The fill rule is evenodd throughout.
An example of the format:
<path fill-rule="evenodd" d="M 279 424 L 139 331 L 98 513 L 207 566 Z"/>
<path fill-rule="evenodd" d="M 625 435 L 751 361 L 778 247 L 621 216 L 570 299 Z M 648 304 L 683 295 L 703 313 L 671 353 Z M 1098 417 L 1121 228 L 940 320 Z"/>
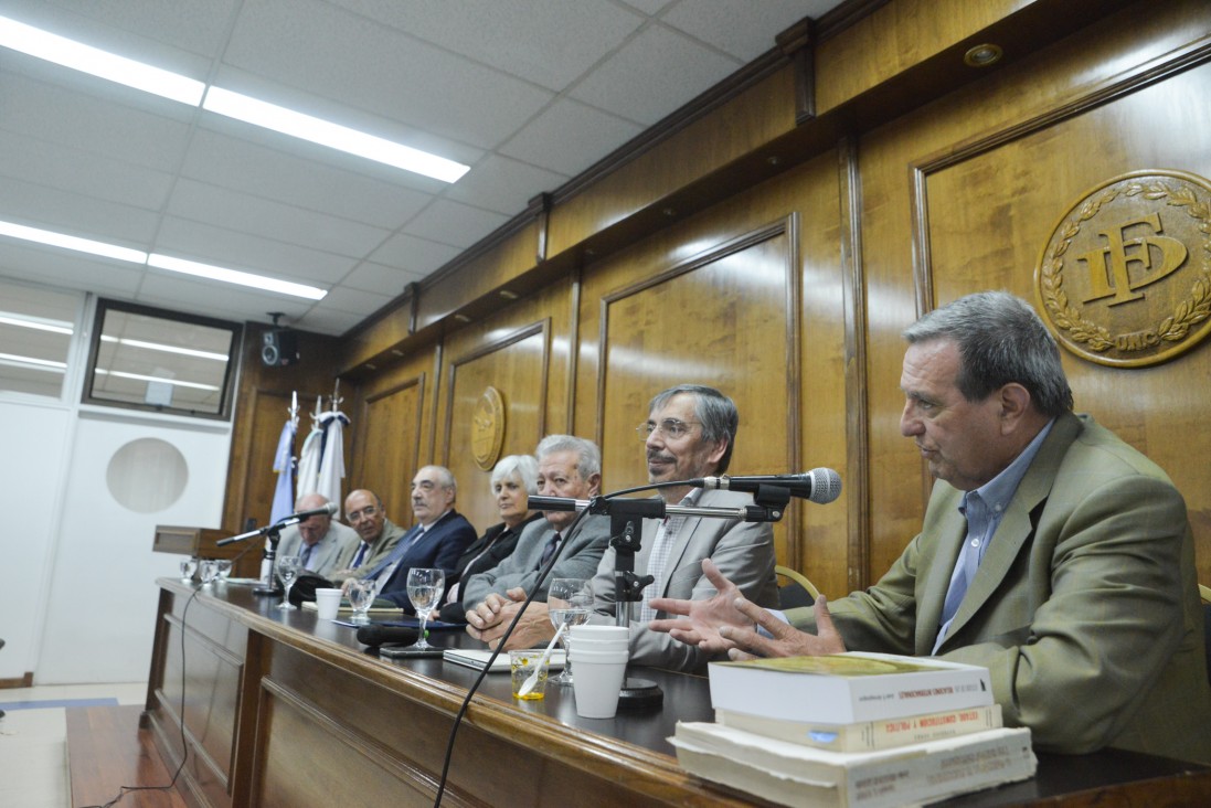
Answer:
<path fill-rule="evenodd" d="M 458 510 L 483 533 L 500 521 L 490 493 L 492 469 L 481 469 L 471 448 L 471 422 L 487 388 L 495 388 L 505 406 L 505 432 L 500 457 L 533 454 L 546 434 L 550 320 L 534 322 L 466 356 L 447 369 L 446 429 L 436 462 L 454 472 L 459 485 Z"/>

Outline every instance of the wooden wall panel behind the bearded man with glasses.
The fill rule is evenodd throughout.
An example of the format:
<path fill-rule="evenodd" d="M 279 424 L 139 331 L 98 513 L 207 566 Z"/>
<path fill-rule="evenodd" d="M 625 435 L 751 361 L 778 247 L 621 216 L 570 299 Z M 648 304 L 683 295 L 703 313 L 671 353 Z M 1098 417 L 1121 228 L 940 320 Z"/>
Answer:
<path fill-rule="evenodd" d="M 838 193 L 830 154 L 586 268 L 576 426 L 603 442 L 607 491 L 647 481 L 633 428 L 681 382 L 736 401 L 733 474 L 828 466 L 845 479 Z M 792 503 L 775 526 L 779 561 L 848 591 L 846 535 L 844 494 Z"/>

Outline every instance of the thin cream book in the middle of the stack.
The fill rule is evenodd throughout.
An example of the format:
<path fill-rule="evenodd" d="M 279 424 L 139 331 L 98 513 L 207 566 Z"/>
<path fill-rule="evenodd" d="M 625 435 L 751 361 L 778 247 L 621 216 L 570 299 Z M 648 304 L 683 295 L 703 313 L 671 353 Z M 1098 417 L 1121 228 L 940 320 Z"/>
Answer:
<path fill-rule="evenodd" d="M 767 718 L 731 710 L 716 710 L 716 722 L 756 735 L 804 744 L 834 752 L 871 752 L 940 738 L 953 738 L 1001 726 L 1000 705 L 926 712 L 902 718 L 827 724 Z"/>

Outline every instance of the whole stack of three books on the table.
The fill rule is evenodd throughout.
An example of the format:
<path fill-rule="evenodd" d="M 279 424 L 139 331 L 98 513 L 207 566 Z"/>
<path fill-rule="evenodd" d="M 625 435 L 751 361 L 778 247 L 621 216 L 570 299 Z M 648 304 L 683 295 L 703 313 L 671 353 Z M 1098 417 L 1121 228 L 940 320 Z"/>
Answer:
<path fill-rule="evenodd" d="M 717 723 L 677 724 L 682 767 L 786 806 L 928 802 L 1034 775 L 986 667 L 891 654 L 712 663 Z"/>

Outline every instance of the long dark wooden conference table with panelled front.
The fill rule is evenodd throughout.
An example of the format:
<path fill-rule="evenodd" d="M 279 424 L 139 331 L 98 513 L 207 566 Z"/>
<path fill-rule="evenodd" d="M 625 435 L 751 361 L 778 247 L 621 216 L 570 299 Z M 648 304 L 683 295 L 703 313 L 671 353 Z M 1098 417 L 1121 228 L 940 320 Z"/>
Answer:
<path fill-rule="evenodd" d="M 379 659 L 352 628 L 226 583 L 160 579 L 144 726 L 177 787 L 208 807 L 432 806 L 455 715 L 480 674 Z M 463 631 L 431 642 L 482 647 Z M 632 670 L 659 707 L 580 718 L 570 688 L 517 701 L 488 674 L 455 735 L 443 806 L 745 806 L 677 766 L 677 721 L 712 720 L 702 676 Z M 1209 728 L 1211 730 L 1211 728 Z M 188 753 L 185 753 L 188 750 Z M 1025 783 L 947 807 L 1211 804 L 1211 768 L 1108 750 L 1039 753 Z"/>

